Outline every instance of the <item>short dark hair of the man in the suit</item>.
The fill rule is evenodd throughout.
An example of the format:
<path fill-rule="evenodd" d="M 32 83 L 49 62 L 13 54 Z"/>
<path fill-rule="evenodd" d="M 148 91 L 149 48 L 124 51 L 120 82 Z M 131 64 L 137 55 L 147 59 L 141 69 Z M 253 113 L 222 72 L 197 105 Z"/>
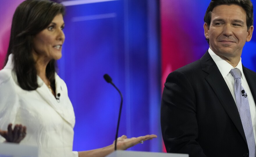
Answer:
<path fill-rule="evenodd" d="M 246 25 L 247 30 L 249 30 L 250 26 L 253 25 L 253 4 L 250 0 L 211 0 L 206 12 L 204 21 L 207 24 L 208 28 L 211 24 L 211 12 L 216 6 L 220 5 L 238 5 L 241 6 L 246 12 Z M 206 39 L 209 44 L 209 39 Z"/>

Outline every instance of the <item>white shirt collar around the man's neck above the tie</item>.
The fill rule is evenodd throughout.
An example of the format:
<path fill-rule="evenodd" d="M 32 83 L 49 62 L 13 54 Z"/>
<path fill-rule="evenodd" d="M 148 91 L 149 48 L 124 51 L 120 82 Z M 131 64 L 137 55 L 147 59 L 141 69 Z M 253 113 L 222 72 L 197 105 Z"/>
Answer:
<path fill-rule="evenodd" d="M 238 63 L 238 65 L 236 67 L 233 67 L 230 63 L 228 63 L 227 61 L 225 61 L 224 59 L 222 59 L 220 56 L 218 56 L 217 54 L 215 54 L 211 48 L 208 49 L 208 52 L 211 56 L 211 58 L 213 59 L 213 61 L 216 63 L 218 69 L 221 72 L 221 75 L 223 76 L 223 78 L 225 78 L 231 69 L 234 68 L 238 68 L 241 71 L 241 78 L 244 80 L 244 74 L 243 74 L 243 68 L 242 68 L 242 60 L 240 57 L 240 61 Z"/>

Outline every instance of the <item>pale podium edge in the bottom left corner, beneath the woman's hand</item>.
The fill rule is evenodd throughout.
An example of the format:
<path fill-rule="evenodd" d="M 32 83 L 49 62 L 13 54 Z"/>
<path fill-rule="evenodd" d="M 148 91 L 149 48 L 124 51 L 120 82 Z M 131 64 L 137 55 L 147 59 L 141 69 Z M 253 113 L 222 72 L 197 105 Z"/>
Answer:
<path fill-rule="evenodd" d="M 16 143 L 0 143 L 0 157 L 38 157 L 38 148 Z"/>

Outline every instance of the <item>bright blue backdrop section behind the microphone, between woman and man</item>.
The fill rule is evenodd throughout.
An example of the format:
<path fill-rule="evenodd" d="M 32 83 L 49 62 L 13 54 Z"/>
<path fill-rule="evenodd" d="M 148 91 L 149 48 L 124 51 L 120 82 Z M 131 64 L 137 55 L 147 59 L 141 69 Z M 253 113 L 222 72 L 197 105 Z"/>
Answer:
<path fill-rule="evenodd" d="M 66 6 L 66 41 L 59 74 L 74 106 L 74 150 L 113 143 L 120 96 L 119 136 L 157 134 L 130 150 L 161 151 L 159 7 L 157 1 L 115 0 Z"/>

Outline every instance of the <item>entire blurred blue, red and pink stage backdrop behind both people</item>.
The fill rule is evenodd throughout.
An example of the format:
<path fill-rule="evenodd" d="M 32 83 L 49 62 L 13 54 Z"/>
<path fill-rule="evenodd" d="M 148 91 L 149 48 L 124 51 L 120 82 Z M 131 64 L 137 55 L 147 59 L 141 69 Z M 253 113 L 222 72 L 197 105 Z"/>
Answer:
<path fill-rule="evenodd" d="M 0 0 L 0 67 L 15 8 L 24 0 Z M 157 134 L 129 150 L 162 152 L 160 106 L 167 75 L 206 52 L 203 17 L 210 0 L 68 0 L 66 36 L 58 74 L 74 106 L 74 150 L 113 143 L 120 96 L 119 136 Z M 252 1 L 256 6 L 256 0 Z M 22 19 L 21 19 L 22 20 Z M 254 33 L 255 34 L 255 33 Z M 243 64 L 256 71 L 256 36 L 243 49 Z M 0 69 L 1 69 L 0 68 Z M 0 89 L 1 90 L 1 89 Z"/>

